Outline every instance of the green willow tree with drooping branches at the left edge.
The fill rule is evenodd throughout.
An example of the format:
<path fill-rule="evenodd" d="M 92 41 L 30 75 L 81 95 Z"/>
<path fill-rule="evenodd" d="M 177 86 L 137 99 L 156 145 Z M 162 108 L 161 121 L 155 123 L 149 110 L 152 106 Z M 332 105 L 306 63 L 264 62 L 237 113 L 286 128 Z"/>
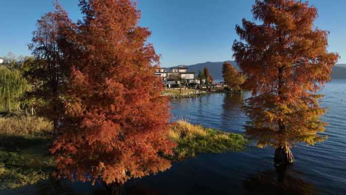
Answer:
<path fill-rule="evenodd" d="M 17 69 L 0 66 L 0 102 L 11 112 L 12 105 L 18 106 L 18 98 L 29 89 L 22 73 Z"/>

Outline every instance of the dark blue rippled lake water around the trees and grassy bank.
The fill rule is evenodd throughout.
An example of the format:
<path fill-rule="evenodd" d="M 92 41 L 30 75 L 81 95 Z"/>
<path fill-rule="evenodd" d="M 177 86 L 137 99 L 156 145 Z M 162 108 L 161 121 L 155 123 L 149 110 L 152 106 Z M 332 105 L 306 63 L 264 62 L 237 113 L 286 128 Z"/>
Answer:
<path fill-rule="evenodd" d="M 200 154 L 174 163 L 166 172 L 129 181 L 124 194 L 346 194 L 346 80 L 333 80 L 322 93 L 326 94 L 322 105 L 328 107 L 323 116 L 329 123 L 325 131 L 328 139 L 314 146 L 294 147 L 295 163 L 284 176 L 273 165 L 273 148 L 252 145 L 243 152 Z M 243 133 L 247 118 L 241 105 L 249 95 L 244 92 L 174 99 L 172 120 L 185 119 Z M 69 182 L 53 186 L 44 183 L 17 193 L 37 191 L 42 191 L 39 194 L 104 194 L 102 186 Z"/>

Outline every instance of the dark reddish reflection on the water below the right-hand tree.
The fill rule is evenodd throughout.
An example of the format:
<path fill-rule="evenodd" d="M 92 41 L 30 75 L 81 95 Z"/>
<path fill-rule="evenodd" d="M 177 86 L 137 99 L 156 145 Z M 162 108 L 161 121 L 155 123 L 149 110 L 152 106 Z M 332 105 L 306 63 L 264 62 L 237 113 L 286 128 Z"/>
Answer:
<path fill-rule="evenodd" d="M 316 186 L 300 178 L 302 173 L 291 166 L 275 166 L 275 170 L 257 172 L 243 181 L 246 195 L 316 195 Z"/>

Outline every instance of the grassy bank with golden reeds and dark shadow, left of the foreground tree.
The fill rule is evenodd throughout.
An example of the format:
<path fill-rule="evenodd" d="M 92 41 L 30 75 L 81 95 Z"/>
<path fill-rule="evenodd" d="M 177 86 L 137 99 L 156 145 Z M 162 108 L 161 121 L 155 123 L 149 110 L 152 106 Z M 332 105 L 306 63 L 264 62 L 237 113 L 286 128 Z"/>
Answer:
<path fill-rule="evenodd" d="M 35 116 L 0 118 L 0 188 L 16 189 L 48 179 L 52 124 Z"/>

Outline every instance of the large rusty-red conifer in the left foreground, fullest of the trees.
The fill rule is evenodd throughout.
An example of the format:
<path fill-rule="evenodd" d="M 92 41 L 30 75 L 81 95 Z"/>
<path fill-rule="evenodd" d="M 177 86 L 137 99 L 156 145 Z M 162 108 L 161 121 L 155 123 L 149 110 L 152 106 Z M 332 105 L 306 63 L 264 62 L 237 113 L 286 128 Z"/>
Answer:
<path fill-rule="evenodd" d="M 119 193 L 130 178 L 164 171 L 175 146 L 167 138 L 168 100 L 152 64 L 159 55 L 147 44 L 130 0 L 80 0 L 84 15 L 66 42 L 74 46 L 62 134 L 51 151 L 57 176 L 103 181 Z M 73 55 L 72 55 L 73 54 Z"/>

